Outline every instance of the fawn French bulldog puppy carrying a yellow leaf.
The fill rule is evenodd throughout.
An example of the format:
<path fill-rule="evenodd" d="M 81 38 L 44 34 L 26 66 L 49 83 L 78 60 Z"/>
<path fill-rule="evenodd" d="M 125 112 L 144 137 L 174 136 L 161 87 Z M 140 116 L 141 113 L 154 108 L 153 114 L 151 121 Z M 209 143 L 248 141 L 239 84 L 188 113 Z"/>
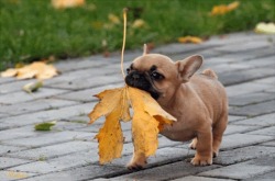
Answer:
<path fill-rule="evenodd" d="M 164 55 L 143 54 L 133 60 L 125 77 L 128 86 L 147 91 L 177 118 L 161 134 L 176 142 L 193 139 L 189 147 L 196 149 L 194 166 L 212 165 L 228 123 L 226 90 L 212 70 L 195 75 L 201 64 L 199 55 L 174 63 Z M 145 165 L 146 157 L 134 154 L 128 168 L 141 169 Z"/>

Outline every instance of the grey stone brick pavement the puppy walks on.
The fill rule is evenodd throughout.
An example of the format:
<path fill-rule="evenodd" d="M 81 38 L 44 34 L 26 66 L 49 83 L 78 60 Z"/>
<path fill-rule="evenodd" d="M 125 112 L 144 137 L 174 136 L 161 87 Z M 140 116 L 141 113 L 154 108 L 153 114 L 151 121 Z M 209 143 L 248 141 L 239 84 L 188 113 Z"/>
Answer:
<path fill-rule="evenodd" d="M 87 125 L 97 100 L 92 94 L 123 86 L 120 56 L 101 55 L 58 61 L 62 75 L 33 94 L 22 86 L 34 80 L 0 79 L 0 180 L 186 180 L 231 181 L 275 178 L 275 36 L 235 33 L 211 37 L 200 45 L 169 44 L 153 49 L 173 59 L 205 57 L 204 68 L 218 72 L 227 87 L 229 125 L 221 152 L 208 167 L 189 163 L 188 143 L 160 136 L 160 148 L 141 171 L 124 165 L 131 158 L 130 123 L 122 123 L 123 156 L 98 163 L 97 134 L 103 120 Z M 129 66 L 142 50 L 128 52 Z M 57 121 L 51 132 L 34 125 Z"/>

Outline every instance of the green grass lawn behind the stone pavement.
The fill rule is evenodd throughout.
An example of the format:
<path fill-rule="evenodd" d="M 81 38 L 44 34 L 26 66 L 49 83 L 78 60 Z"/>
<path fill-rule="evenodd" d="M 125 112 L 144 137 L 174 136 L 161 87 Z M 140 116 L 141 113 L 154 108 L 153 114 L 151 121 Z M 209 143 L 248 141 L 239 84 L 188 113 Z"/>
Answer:
<path fill-rule="evenodd" d="M 50 56 L 63 59 L 120 49 L 122 23 L 106 26 L 110 24 L 110 13 L 122 22 L 124 7 L 131 8 L 128 49 L 144 43 L 176 42 L 185 35 L 207 37 L 253 30 L 261 21 L 275 21 L 274 0 L 240 0 L 237 10 L 209 15 L 213 5 L 230 2 L 232 0 L 87 0 L 85 7 L 56 10 L 51 0 L 0 0 L 0 70 Z M 139 8 L 141 11 L 132 10 Z M 136 16 L 143 19 L 146 26 L 133 29 L 131 23 Z M 107 42 L 106 47 L 102 41 Z"/>

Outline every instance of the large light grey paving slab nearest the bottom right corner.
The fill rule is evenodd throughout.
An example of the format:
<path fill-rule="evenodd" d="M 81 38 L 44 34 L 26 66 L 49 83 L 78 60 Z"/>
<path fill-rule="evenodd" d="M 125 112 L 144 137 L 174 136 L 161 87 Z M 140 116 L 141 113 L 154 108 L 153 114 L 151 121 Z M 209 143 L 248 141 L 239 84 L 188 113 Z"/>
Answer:
<path fill-rule="evenodd" d="M 242 169 L 240 170 L 240 168 Z M 240 162 L 237 165 L 222 167 L 219 169 L 205 171 L 202 173 L 199 173 L 199 176 L 218 177 L 226 179 L 250 179 L 258 174 L 264 174 L 265 172 L 271 172 L 274 170 L 275 170 L 275 158 L 266 156 L 245 162 Z"/>

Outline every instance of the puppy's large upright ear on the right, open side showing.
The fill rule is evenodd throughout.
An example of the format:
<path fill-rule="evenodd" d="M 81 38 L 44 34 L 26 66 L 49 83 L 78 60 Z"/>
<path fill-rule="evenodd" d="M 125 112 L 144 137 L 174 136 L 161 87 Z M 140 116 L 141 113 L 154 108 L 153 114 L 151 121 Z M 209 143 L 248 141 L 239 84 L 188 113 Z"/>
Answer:
<path fill-rule="evenodd" d="M 183 82 L 189 81 L 191 76 L 199 69 L 202 64 L 202 56 L 193 55 L 190 57 L 185 58 L 184 60 L 179 60 L 176 63 L 178 69 L 178 78 Z"/>

